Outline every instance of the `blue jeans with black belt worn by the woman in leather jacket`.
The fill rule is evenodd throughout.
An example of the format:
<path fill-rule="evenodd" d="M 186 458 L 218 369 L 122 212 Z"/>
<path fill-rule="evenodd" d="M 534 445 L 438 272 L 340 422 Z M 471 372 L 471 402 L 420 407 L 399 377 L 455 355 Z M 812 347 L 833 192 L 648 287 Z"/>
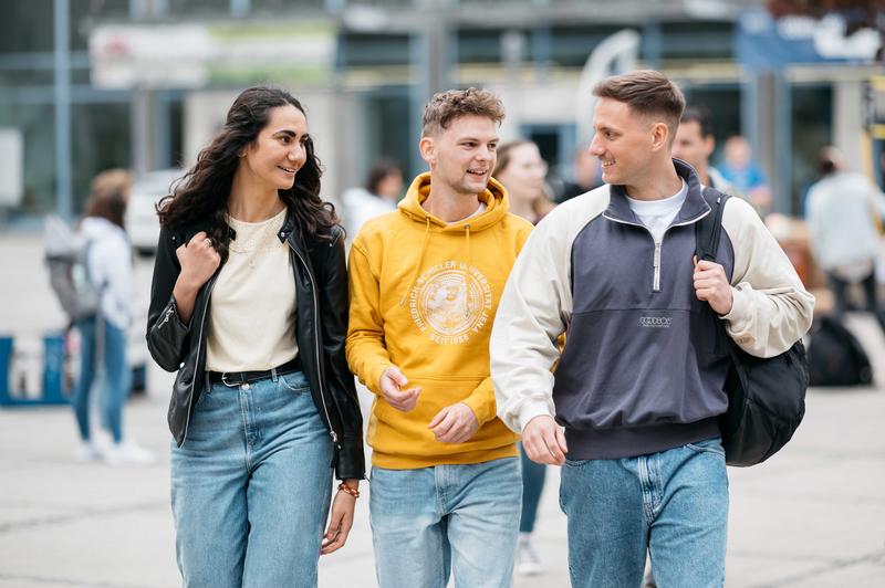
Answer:
<path fill-rule="evenodd" d="M 314 587 L 332 495 L 332 439 L 295 371 L 204 390 L 171 443 L 185 587 Z"/>

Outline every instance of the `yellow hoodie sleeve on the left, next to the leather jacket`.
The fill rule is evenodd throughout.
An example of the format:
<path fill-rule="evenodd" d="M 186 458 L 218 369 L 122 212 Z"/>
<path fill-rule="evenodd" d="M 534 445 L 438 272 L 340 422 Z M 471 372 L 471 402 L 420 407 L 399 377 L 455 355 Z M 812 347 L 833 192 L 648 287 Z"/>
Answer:
<path fill-rule="evenodd" d="M 384 344 L 378 276 L 372 271 L 368 254 L 358 239 L 351 246 L 347 275 L 351 292 L 347 366 L 366 388 L 377 395 L 381 393 L 378 379 L 393 364 Z"/>

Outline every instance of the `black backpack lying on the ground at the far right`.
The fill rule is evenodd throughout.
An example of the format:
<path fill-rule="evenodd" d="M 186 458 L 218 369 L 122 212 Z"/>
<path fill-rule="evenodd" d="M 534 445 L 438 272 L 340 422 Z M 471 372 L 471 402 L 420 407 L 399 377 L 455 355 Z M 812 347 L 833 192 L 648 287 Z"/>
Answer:
<path fill-rule="evenodd" d="M 809 376 L 812 386 L 870 386 L 873 368 L 861 343 L 832 316 L 811 326 Z"/>

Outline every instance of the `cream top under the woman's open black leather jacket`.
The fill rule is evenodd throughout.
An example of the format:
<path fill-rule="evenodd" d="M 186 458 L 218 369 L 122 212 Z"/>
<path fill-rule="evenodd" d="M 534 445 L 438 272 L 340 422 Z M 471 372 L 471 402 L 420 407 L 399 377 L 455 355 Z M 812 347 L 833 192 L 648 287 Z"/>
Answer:
<path fill-rule="evenodd" d="M 298 355 L 295 279 L 277 235 L 285 212 L 261 222 L 228 218 L 237 238 L 212 288 L 207 370 L 271 369 Z"/>

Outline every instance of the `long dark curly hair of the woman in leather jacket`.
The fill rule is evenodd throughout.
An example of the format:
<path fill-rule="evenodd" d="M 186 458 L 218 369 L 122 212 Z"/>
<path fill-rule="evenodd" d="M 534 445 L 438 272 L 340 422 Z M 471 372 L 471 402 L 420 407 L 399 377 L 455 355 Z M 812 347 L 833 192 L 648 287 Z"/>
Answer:
<path fill-rule="evenodd" d="M 228 111 L 225 127 L 200 151 L 194 167 L 174 185 L 173 195 L 157 202 L 160 224 L 176 229 L 208 222 L 212 245 L 220 253 L 222 262 L 227 260 L 230 237 L 225 216 L 239 154 L 258 138 L 268 124 L 270 109 L 287 104 L 306 116 L 301 103 L 283 90 L 257 86 L 237 96 Z M 278 192 L 294 213 L 305 238 L 332 242 L 335 239 L 333 228 L 339 223 L 339 218 L 335 207 L 320 199 L 323 170 L 310 137 L 304 143 L 304 149 L 308 157 L 295 175 L 294 185 Z"/>

